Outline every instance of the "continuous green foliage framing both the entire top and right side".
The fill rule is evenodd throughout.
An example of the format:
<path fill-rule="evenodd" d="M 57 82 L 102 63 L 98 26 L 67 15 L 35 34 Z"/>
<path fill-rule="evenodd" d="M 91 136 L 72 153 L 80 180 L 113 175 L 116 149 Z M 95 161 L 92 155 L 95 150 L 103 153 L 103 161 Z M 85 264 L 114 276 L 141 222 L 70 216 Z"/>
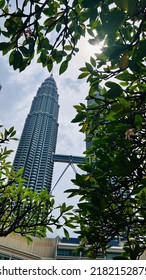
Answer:
<path fill-rule="evenodd" d="M 24 70 L 36 52 L 49 71 L 59 63 L 62 74 L 81 36 L 88 33 L 92 45 L 103 42 L 102 52 L 80 69 L 93 104 L 75 106 L 73 122 L 80 123 L 91 145 L 81 167 L 87 174 L 77 174 L 78 188 L 70 196 L 81 196 L 80 236 L 92 257 L 118 235 L 126 240 L 123 257 L 139 258 L 146 242 L 145 0 L 16 0 L 11 5 L 0 1 L 0 50 L 10 53 L 14 69 Z"/>

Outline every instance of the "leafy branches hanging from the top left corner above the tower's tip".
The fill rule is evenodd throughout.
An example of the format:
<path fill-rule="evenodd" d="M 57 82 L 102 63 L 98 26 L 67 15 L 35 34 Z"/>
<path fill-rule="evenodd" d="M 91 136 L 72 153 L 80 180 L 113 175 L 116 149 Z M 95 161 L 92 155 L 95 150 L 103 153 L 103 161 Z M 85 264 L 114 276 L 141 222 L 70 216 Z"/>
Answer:
<path fill-rule="evenodd" d="M 74 1 L 76 2 L 76 1 Z M 23 71 L 35 54 L 38 63 L 52 70 L 53 63 L 61 63 L 60 74 L 78 52 L 77 42 L 85 34 L 80 19 L 80 5 L 67 0 L 56 1 L 0 1 L 0 30 L 2 54 L 9 55 L 14 70 Z"/>

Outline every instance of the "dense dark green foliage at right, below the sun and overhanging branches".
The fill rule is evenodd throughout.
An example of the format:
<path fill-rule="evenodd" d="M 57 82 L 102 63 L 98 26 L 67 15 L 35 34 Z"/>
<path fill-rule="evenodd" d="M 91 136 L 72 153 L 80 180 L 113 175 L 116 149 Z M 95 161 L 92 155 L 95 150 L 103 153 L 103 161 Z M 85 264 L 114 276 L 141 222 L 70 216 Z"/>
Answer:
<path fill-rule="evenodd" d="M 116 95 L 119 85 L 109 86 Z M 127 240 L 128 257 L 136 259 L 146 248 L 146 97 L 137 91 L 117 98 L 107 93 L 93 96 L 92 105 L 75 106 L 73 122 L 80 123 L 90 145 L 81 166 L 86 174 L 77 174 L 73 182 L 78 188 L 69 192 L 81 197 L 79 234 L 90 245 L 89 253 L 97 256 L 120 236 Z M 134 134 L 128 139 L 129 128 Z"/>

